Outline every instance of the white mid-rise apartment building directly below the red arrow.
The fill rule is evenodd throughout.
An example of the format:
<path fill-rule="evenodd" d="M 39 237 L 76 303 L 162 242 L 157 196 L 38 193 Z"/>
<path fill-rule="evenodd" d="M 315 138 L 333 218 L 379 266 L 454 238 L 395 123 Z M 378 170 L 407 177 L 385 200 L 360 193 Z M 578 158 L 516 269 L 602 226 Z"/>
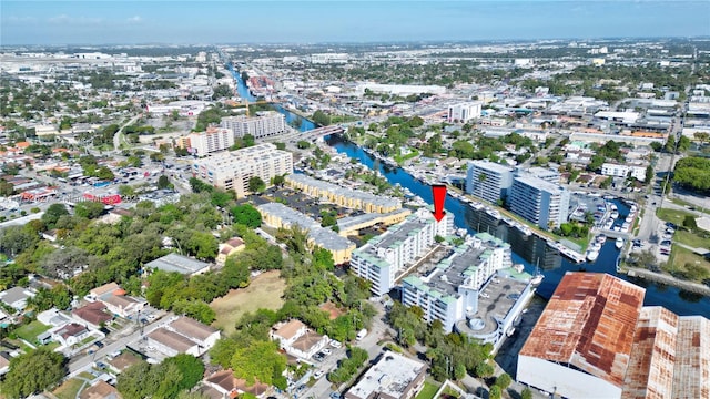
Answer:
<path fill-rule="evenodd" d="M 403 272 L 432 250 L 437 235 L 445 237 L 453 232 L 453 215 L 446 214 L 436 222 L 430 212 L 419 208 L 385 234 L 354 250 L 351 270 L 373 283 L 371 289 L 374 295 L 385 295 Z"/>

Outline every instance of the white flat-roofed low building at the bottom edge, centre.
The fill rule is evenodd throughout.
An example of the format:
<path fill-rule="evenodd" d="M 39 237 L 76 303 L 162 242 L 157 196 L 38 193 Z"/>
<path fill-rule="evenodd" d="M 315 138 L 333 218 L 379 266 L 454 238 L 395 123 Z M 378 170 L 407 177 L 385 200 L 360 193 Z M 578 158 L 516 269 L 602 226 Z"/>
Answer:
<path fill-rule="evenodd" d="M 414 398 L 424 387 L 426 369 L 422 361 L 387 351 L 345 392 L 345 399 Z"/>

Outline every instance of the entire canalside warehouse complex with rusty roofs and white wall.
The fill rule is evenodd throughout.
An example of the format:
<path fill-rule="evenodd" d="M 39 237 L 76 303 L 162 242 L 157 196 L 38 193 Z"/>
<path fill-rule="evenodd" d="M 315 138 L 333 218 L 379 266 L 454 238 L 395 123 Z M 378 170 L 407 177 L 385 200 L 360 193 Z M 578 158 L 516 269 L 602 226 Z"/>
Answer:
<path fill-rule="evenodd" d="M 567 398 L 710 398 L 710 321 L 642 307 L 645 293 L 568 272 L 518 355 L 517 379 Z"/>

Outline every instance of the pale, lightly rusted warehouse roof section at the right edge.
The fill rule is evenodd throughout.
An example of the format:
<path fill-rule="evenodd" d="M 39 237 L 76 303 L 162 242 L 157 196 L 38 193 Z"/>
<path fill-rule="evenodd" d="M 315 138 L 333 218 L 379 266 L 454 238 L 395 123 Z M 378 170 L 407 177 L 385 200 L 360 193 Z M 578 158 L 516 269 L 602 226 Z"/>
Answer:
<path fill-rule="evenodd" d="M 710 398 L 710 320 L 680 317 L 673 370 L 674 399 Z"/>

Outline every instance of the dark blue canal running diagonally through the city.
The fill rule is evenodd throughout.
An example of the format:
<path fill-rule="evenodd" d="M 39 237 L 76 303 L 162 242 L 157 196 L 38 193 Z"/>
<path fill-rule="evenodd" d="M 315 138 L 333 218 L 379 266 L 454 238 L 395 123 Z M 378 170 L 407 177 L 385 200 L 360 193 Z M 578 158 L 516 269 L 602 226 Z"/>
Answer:
<path fill-rule="evenodd" d="M 237 92 L 240 96 L 250 102 L 256 101 L 256 98 L 248 92 L 248 89 L 242 81 L 240 73 L 234 71 L 231 66 L 230 70 L 237 82 Z M 281 105 L 275 105 L 275 109 L 286 116 L 286 122 L 291 122 L 300 117 Z M 302 123 L 300 130 L 302 132 L 316 127 L 312 121 L 303 117 L 301 120 Z M 430 204 L 433 202 L 432 187 L 417 181 L 404 170 L 399 167 L 389 167 L 365 153 L 354 143 L 343 141 L 339 137 L 327 136 L 326 142 L 338 153 L 345 154 L 351 158 L 356 158 L 359 163 L 371 170 L 378 171 L 390 184 L 398 183 L 403 187 L 409 188 L 409 191 L 420 196 L 427 203 Z M 616 201 L 615 203 L 617 204 L 619 214 L 621 215 L 619 219 L 622 221 L 628 214 L 629 207 L 619 201 Z M 616 248 L 613 239 L 608 239 L 605 243 L 596 262 L 576 264 L 561 256 L 559 252 L 548 247 L 547 243 L 537 236 L 526 236 L 517 228 L 509 227 L 503 221 L 494 218 L 484 211 L 476 211 L 468 204 L 448 195 L 445 203 L 445 209 L 454 215 L 454 221 L 458 228 L 465 228 L 470 234 L 476 232 L 488 232 L 509 243 L 513 249 L 513 262 L 525 265 L 528 273 L 534 274 L 536 265 L 539 265 L 539 270 L 545 275 L 545 278 L 538 287 L 537 293 L 545 298 L 549 298 L 552 295 L 555 288 L 557 288 L 557 285 L 567 272 L 586 270 L 608 273 L 645 287 L 646 297 L 643 304 L 647 306 L 663 306 L 681 316 L 702 315 L 710 318 L 710 297 L 688 293 L 662 284 L 651 283 L 641 278 L 617 274 L 616 262 L 619 257 L 619 249 Z"/>

